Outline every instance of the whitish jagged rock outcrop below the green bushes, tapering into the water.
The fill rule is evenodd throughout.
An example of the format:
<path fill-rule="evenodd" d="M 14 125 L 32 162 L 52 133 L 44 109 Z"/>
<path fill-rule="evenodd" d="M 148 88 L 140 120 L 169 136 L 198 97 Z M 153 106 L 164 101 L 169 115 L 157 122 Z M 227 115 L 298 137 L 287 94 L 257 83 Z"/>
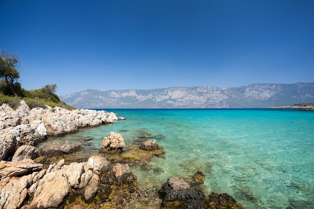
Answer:
<path fill-rule="evenodd" d="M 11 160 L 22 145 L 33 146 L 48 135 L 60 136 L 78 128 L 112 123 L 114 113 L 96 110 L 66 110 L 63 108 L 30 108 L 21 101 L 17 110 L 8 104 L 0 106 L 0 160 Z M 68 144 L 64 145 L 68 146 Z"/>

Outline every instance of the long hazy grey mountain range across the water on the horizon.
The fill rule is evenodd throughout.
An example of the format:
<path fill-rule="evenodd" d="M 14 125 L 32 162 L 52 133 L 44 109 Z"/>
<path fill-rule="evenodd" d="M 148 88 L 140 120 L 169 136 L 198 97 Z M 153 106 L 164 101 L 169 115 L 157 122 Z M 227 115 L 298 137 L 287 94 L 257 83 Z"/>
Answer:
<path fill-rule="evenodd" d="M 60 96 L 77 108 L 265 108 L 314 103 L 314 83 L 150 90 L 85 90 Z"/>

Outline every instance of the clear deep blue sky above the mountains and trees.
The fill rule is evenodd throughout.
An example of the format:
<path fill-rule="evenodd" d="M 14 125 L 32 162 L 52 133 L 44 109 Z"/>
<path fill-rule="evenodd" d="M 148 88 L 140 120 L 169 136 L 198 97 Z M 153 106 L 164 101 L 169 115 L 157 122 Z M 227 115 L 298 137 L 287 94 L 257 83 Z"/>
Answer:
<path fill-rule="evenodd" d="M 22 87 L 238 87 L 314 82 L 314 1 L 0 0 Z"/>

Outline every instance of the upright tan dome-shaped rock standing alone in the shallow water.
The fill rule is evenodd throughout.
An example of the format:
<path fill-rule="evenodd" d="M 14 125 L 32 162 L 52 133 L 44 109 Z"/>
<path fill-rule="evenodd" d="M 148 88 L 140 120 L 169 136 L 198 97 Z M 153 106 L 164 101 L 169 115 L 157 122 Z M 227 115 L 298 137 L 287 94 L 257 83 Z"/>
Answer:
<path fill-rule="evenodd" d="M 104 151 L 120 152 L 124 147 L 125 143 L 120 133 L 110 132 L 108 137 L 103 138 L 102 149 Z"/>

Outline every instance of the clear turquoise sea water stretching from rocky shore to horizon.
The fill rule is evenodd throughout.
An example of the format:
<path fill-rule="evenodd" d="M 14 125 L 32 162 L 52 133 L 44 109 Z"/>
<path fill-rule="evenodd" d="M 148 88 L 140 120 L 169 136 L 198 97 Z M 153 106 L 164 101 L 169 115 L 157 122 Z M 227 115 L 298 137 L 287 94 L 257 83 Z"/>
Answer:
<path fill-rule="evenodd" d="M 273 109 L 115 109 L 113 124 L 69 134 L 93 136 L 101 147 L 109 132 L 130 144 L 152 132 L 165 157 L 132 167 L 138 185 L 186 179 L 198 170 L 209 194 L 227 192 L 245 208 L 314 208 L 314 112 Z"/>

